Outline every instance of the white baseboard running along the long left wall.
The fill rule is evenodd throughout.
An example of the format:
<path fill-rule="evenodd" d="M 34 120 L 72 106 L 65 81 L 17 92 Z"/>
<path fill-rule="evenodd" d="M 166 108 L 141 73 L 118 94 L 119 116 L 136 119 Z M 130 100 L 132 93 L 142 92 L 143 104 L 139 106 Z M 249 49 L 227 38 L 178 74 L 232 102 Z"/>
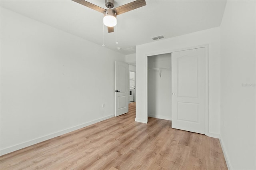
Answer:
<path fill-rule="evenodd" d="M 52 134 L 48 134 L 46 136 L 42 136 L 42 137 L 39 137 L 39 138 L 30 140 L 30 141 L 27 141 L 27 142 L 24 142 L 24 143 L 20 143 L 20 144 L 14 145 L 14 146 L 10 146 L 8 148 L 1 149 L 0 150 L 0 155 L 2 156 L 4 154 L 8 154 L 10 152 L 14 152 L 16 150 L 20 150 L 22 148 L 26 148 L 26 147 L 31 146 L 33 144 L 37 144 L 39 142 L 43 142 L 45 140 L 48 140 L 48 139 L 60 136 L 62 134 L 66 134 L 66 133 L 72 132 L 74 130 L 78 130 L 80 128 L 87 127 L 89 125 L 92 125 L 94 123 L 98 123 L 100 121 L 104 121 L 104 120 L 112 118 L 114 116 L 115 115 L 109 115 L 109 116 L 106 116 L 106 117 L 102 117 L 100 119 L 96 119 L 96 120 L 93 120 L 93 121 L 90 121 L 90 122 L 87 122 L 87 123 L 83 123 L 81 125 L 77 125 L 77 126 L 74 126 L 74 127 L 71 127 L 71 128 L 67 128 L 67 129 L 64 129 L 64 130 L 61 130 L 61 131 L 58 131 L 58 132 L 54 132 Z"/>

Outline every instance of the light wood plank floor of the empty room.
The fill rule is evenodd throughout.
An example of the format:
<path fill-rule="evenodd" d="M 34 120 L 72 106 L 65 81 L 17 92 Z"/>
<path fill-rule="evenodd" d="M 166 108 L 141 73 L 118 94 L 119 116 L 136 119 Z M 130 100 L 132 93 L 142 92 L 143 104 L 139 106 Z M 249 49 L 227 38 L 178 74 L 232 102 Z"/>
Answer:
<path fill-rule="evenodd" d="M 129 113 L 0 157 L 1 170 L 219 170 L 227 169 L 220 142 L 171 128 L 171 121 Z"/>

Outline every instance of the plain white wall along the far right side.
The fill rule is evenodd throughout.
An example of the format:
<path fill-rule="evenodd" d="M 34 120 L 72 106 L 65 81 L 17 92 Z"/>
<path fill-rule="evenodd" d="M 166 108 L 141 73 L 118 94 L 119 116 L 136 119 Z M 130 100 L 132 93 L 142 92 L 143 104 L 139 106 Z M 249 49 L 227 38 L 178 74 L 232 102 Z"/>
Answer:
<path fill-rule="evenodd" d="M 256 169 L 255 9 L 255 1 L 228 1 L 220 26 L 220 141 L 236 170 Z"/>

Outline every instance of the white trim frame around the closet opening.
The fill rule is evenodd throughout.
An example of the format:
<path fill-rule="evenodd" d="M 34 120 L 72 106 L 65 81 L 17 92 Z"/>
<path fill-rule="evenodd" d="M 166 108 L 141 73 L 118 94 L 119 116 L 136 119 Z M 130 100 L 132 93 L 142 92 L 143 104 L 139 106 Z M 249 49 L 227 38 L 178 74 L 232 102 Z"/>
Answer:
<path fill-rule="evenodd" d="M 157 53 L 149 53 L 146 57 L 146 95 L 145 95 L 145 101 L 146 101 L 146 119 L 148 120 L 148 57 L 152 55 L 161 55 L 166 53 L 173 53 L 177 51 L 185 51 L 189 49 L 196 49 L 196 48 L 202 48 L 205 47 L 205 135 L 208 136 L 209 134 L 209 61 L 208 61 L 208 44 L 203 45 L 197 45 L 182 49 L 173 49 L 169 51 L 162 51 Z"/>

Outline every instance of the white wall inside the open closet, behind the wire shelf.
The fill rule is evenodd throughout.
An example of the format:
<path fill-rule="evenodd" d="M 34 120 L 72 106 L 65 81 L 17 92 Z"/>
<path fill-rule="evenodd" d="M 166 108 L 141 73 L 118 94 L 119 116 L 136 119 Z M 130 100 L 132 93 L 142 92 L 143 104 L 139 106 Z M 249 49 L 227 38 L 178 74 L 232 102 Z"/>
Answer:
<path fill-rule="evenodd" d="M 148 57 L 148 116 L 158 119 L 172 119 L 172 72 L 153 68 L 171 67 L 171 54 Z M 161 77 L 160 77 L 161 75 Z"/>

